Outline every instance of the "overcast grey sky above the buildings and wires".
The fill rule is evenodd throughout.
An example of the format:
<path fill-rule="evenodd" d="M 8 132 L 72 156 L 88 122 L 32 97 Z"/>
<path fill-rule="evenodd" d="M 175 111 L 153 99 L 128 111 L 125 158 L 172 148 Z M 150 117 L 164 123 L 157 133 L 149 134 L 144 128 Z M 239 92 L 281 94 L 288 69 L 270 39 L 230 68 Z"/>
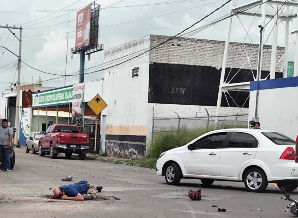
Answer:
<path fill-rule="evenodd" d="M 119 1 L 120 0 L 102 0 L 97 1 L 97 4 L 101 4 L 101 7 L 105 8 Z M 181 0 L 178 1 L 179 3 L 177 3 L 177 1 L 178 0 L 123 0 L 111 6 L 111 8 L 101 10 L 100 27 L 102 28 L 100 29 L 99 43 L 104 44 L 105 49 L 109 49 L 111 47 L 135 40 L 149 34 L 176 35 L 178 32 L 181 32 L 181 30 L 200 20 L 216 7 L 219 7 L 221 4 L 226 2 L 226 0 Z M 235 0 L 238 5 L 242 2 L 247 3 L 249 1 L 250 0 Z M 146 5 L 163 2 L 165 2 L 166 4 Z M 20 24 L 22 24 L 21 26 L 24 28 L 22 31 L 22 60 L 24 62 L 42 71 L 54 74 L 64 74 L 68 32 L 67 21 L 76 19 L 77 9 L 84 7 L 89 3 L 91 3 L 91 1 L 89 0 L 4 1 L 4 3 L 1 4 L 0 9 L 0 24 L 2 26 L 6 24 L 11 26 L 19 26 Z M 132 5 L 144 6 L 123 7 Z M 64 7 L 66 7 L 64 10 L 54 13 L 55 11 L 60 10 Z M 207 18 L 206 21 L 203 21 L 195 27 L 199 27 L 202 24 L 207 23 L 208 21 L 212 21 L 222 15 L 229 13 L 229 7 L 230 4 L 227 4 L 221 10 Z M 258 8 L 255 8 L 254 10 L 256 11 L 257 9 Z M 270 6 L 268 7 L 268 11 L 273 13 L 273 9 L 270 8 Z M 292 8 L 290 9 L 290 11 L 292 11 Z M 261 9 L 259 10 L 259 12 L 261 12 Z M 286 12 L 286 10 L 284 10 L 283 12 Z M 54 14 L 50 15 L 51 13 Z M 165 15 L 168 13 L 172 14 Z M 296 8 L 294 9 L 294 13 L 297 13 Z M 144 18 L 150 19 L 136 21 Z M 246 29 L 249 29 L 252 24 L 252 27 L 249 31 L 249 35 L 252 40 L 247 37 L 245 42 L 252 43 L 253 41 L 253 43 L 258 44 L 259 28 L 257 26 L 258 24 L 260 24 L 260 18 L 257 17 L 254 19 L 254 17 L 243 15 L 240 15 L 239 18 L 241 19 Z M 129 21 L 136 22 L 122 24 Z M 266 22 L 267 21 L 269 21 L 269 18 L 267 18 Z M 114 24 L 121 25 L 106 27 Z M 273 22 L 268 24 L 268 27 L 265 31 L 265 38 L 271 31 L 272 24 Z M 296 19 L 294 20 L 294 24 L 296 26 Z M 294 24 L 292 22 L 290 23 L 290 32 L 296 30 Z M 240 30 L 238 28 L 238 25 L 240 26 Z M 199 32 L 191 37 L 224 41 L 226 38 L 226 26 L 227 21 L 225 20 L 222 21 L 220 24 L 216 24 L 209 29 Z M 74 55 L 73 59 L 71 59 L 69 54 L 69 49 L 75 46 L 75 28 L 75 21 L 70 21 L 69 46 L 67 50 L 67 74 L 79 70 L 79 55 Z M 15 32 L 18 36 L 18 30 L 13 30 L 13 32 Z M 246 35 L 245 29 L 243 29 L 243 27 L 241 26 L 239 19 L 234 17 L 230 41 L 242 42 L 240 32 L 242 37 L 244 38 Z M 268 38 L 266 44 L 271 45 L 271 35 Z M 18 54 L 18 40 L 7 29 L 0 29 L 0 37 L 2 46 L 9 46 L 8 48 L 12 52 Z M 280 23 L 278 35 L 279 46 L 284 46 L 284 37 L 285 27 L 282 23 Z M 294 36 L 292 37 L 295 39 Z M 289 45 L 292 45 L 292 43 L 293 40 L 290 37 Z M 14 67 L 14 64 L 12 62 L 16 61 L 17 57 L 5 50 L 0 50 L 0 52 L 0 91 L 3 91 L 6 88 L 8 89 L 10 87 L 10 82 L 16 82 L 17 78 L 16 76 L 14 77 L 16 67 Z M 2 52 L 4 52 L 4 54 L 2 54 Z M 292 46 L 290 50 L 289 60 L 294 60 L 293 54 L 294 46 Z M 89 68 L 103 62 L 104 51 L 97 52 L 91 55 L 90 61 L 87 61 L 86 58 L 85 68 Z M 24 83 L 32 83 L 32 79 L 38 76 L 41 76 L 42 80 L 48 80 L 57 77 L 35 71 L 22 64 L 21 85 L 23 85 Z M 94 73 L 86 76 L 85 81 L 100 79 L 101 77 L 102 73 Z M 66 85 L 78 83 L 78 80 L 78 77 L 67 77 Z M 43 85 L 50 87 L 60 87 L 64 85 L 64 79 L 44 82 Z"/>

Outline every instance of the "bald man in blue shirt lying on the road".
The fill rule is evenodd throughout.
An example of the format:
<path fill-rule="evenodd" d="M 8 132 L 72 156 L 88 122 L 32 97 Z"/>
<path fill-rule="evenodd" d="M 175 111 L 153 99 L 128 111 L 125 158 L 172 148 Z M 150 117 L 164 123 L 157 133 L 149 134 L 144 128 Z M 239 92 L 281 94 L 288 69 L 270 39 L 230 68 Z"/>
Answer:
<path fill-rule="evenodd" d="M 54 195 L 51 198 L 73 201 L 94 200 L 96 191 L 100 192 L 101 189 L 103 189 L 103 186 L 95 187 L 87 181 L 80 181 L 55 188 Z"/>

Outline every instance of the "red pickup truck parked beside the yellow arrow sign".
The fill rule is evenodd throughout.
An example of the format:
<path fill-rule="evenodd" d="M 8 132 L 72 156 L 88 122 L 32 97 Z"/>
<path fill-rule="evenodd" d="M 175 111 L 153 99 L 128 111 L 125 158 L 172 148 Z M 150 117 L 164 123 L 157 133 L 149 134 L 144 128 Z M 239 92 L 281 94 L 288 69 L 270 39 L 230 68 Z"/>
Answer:
<path fill-rule="evenodd" d="M 39 156 L 49 153 L 51 158 L 56 158 L 58 153 L 65 153 L 66 158 L 70 158 L 75 153 L 80 160 L 85 160 L 89 149 L 89 135 L 80 133 L 78 126 L 54 124 L 40 133 L 43 135 L 38 141 Z"/>

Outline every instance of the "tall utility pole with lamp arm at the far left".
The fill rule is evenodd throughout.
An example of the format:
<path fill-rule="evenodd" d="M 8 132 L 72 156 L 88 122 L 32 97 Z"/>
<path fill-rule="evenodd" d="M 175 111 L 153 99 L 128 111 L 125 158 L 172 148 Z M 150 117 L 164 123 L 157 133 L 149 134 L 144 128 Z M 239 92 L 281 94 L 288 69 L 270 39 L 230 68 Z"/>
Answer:
<path fill-rule="evenodd" d="M 15 103 L 15 128 L 17 129 L 17 131 L 15 132 L 15 138 L 14 138 L 14 144 L 18 145 L 18 133 L 19 133 L 19 122 L 20 122 L 19 121 L 19 114 L 20 114 L 21 49 L 22 49 L 22 29 L 23 28 L 22 27 L 8 27 L 8 26 L 0 26 L 0 28 L 7 28 L 11 33 L 13 33 L 13 32 L 10 29 L 19 29 L 20 30 L 20 38 L 18 38 L 13 33 L 13 35 L 19 40 L 18 81 L 17 81 L 17 84 L 16 84 L 17 99 L 16 99 L 16 103 Z"/>

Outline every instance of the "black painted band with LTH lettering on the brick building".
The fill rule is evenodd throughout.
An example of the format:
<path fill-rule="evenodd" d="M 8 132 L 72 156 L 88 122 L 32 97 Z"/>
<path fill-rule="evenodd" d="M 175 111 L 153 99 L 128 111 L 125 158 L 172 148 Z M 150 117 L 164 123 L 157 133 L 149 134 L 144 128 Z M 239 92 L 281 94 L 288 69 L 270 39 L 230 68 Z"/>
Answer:
<path fill-rule="evenodd" d="M 228 81 L 239 71 L 237 68 L 226 68 L 225 79 Z M 256 71 L 253 71 L 256 74 Z M 262 71 L 265 78 L 269 71 Z M 148 102 L 179 105 L 216 106 L 221 69 L 210 66 L 183 64 L 151 63 L 149 69 Z M 283 77 L 276 72 L 276 78 Z M 253 81 L 251 70 L 241 69 L 231 80 L 234 82 Z M 229 91 L 235 102 L 242 107 L 249 92 Z M 232 98 L 227 96 L 229 105 L 236 107 Z M 222 107 L 228 107 L 225 96 L 222 96 Z M 244 107 L 249 106 L 247 99 Z"/>

